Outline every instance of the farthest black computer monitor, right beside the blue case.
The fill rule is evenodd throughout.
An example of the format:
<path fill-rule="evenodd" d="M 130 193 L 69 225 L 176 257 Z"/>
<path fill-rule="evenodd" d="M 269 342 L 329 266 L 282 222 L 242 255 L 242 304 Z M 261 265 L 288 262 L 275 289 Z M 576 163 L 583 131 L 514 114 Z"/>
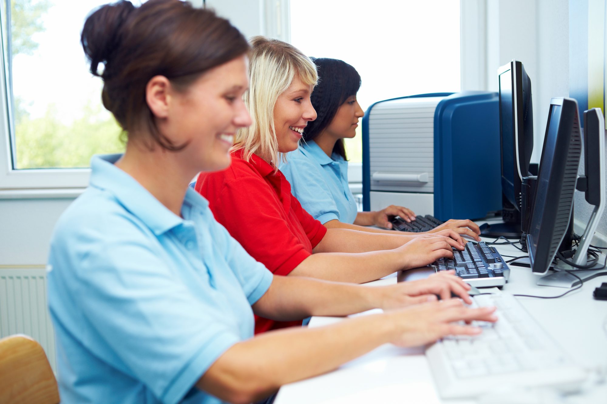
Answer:
<path fill-rule="evenodd" d="M 487 226 L 487 237 L 521 237 L 521 183 L 529 175 L 533 152 L 531 79 L 523 64 L 512 60 L 498 69 L 500 90 L 500 158 L 502 218 Z"/>

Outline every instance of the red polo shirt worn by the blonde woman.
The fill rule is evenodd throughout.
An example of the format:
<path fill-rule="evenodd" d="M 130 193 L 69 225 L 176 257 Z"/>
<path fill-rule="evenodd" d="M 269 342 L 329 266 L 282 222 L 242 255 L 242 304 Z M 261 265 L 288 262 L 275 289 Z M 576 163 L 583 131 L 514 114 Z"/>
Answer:
<path fill-rule="evenodd" d="M 195 189 L 209 201 L 215 219 L 260 263 L 276 275 L 288 275 L 312 254 L 327 229 L 291 195 L 280 171 L 253 154 L 232 153 L 232 164 L 220 172 L 200 173 Z M 255 332 L 301 322 L 275 322 L 256 316 Z"/>

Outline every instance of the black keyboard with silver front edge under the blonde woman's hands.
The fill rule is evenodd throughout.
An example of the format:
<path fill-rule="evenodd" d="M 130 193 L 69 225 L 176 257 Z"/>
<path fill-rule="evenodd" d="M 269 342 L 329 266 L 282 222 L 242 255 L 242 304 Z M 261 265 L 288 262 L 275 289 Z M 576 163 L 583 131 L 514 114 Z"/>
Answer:
<path fill-rule="evenodd" d="M 436 272 L 453 269 L 458 277 L 476 288 L 503 286 L 510 276 L 504 258 L 484 241 L 466 243 L 464 251 L 453 248 L 453 260 L 439 258 L 431 266 Z"/>

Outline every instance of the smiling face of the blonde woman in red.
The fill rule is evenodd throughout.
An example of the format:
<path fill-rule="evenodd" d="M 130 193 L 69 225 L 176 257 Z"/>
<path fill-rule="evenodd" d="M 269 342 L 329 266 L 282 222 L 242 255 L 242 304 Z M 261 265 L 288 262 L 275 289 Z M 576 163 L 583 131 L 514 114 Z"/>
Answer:
<path fill-rule="evenodd" d="M 314 86 L 308 86 L 295 76 L 288 89 L 278 96 L 274 105 L 274 130 L 280 153 L 297 149 L 302 132 L 309 121 L 316 119 L 310 101 Z"/>

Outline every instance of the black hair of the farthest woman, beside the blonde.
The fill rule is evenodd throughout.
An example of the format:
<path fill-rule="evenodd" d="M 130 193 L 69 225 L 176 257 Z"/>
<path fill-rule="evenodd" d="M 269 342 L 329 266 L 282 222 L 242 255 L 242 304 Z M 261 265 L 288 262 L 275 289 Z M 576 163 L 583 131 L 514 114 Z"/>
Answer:
<path fill-rule="evenodd" d="M 329 126 L 337 109 L 361 88 L 361 75 L 354 67 L 339 59 L 310 58 L 318 69 L 319 82 L 311 96 L 312 106 L 316 110 L 316 120 L 308 123 L 304 130 L 304 140 L 314 140 Z M 333 153 L 344 160 L 344 140 L 335 142 Z"/>

